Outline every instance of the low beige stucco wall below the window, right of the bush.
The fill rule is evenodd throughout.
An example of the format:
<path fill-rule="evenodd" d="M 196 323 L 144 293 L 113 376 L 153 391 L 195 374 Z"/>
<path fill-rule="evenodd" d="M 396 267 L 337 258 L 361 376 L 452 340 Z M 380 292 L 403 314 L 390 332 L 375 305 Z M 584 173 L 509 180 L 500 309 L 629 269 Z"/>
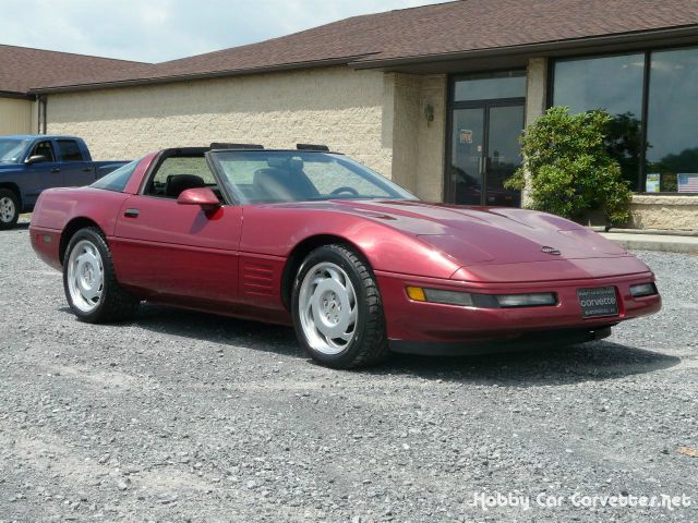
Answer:
<path fill-rule="evenodd" d="M 698 231 L 698 196 L 646 196 L 636 194 L 630 204 L 631 227 Z"/>

